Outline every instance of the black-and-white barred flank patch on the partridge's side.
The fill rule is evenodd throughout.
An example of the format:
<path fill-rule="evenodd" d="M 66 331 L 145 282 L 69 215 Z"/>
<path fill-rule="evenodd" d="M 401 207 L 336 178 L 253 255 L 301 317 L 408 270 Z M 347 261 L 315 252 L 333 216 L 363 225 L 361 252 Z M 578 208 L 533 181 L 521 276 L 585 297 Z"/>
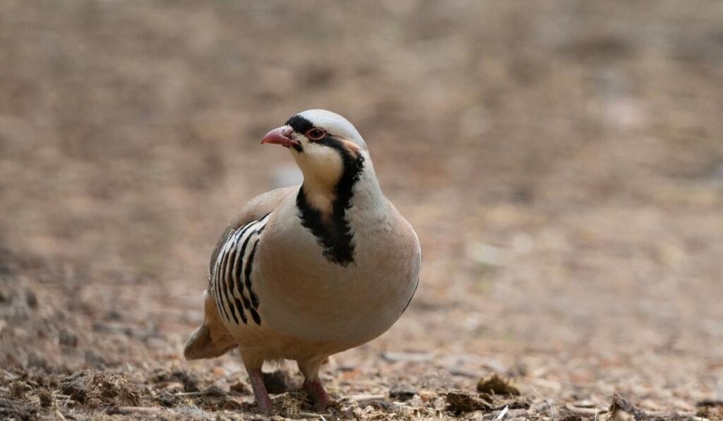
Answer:
<path fill-rule="evenodd" d="M 254 256 L 269 214 L 231 232 L 218 252 L 211 273 L 211 291 L 222 318 L 235 324 L 248 323 L 250 315 L 261 325 L 259 298 L 254 293 Z"/>

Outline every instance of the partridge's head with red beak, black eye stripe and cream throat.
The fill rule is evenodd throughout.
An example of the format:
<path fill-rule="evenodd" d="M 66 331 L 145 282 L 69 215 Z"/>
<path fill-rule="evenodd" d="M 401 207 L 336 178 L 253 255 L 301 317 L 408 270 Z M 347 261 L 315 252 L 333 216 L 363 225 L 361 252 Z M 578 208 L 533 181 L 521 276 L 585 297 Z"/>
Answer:
<path fill-rule="evenodd" d="M 269 131 L 261 143 L 281 144 L 304 173 L 304 185 L 333 190 L 345 176 L 358 176 L 369 159 L 367 144 L 346 118 L 327 110 L 296 114 Z"/>

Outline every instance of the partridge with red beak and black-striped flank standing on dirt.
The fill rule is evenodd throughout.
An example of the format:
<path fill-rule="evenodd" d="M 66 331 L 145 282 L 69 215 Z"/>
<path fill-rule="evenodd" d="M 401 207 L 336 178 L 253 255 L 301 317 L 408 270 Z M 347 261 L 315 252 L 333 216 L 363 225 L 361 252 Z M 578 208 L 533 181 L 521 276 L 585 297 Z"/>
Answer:
<path fill-rule="evenodd" d="M 226 227 L 210 258 L 204 320 L 184 357 L 238 347 L 265 412 L 273 405 L 262 365 L 295 360 L 315 409 L 325 409 L 322 362 L 401 317 L 419 285 L 422 248 L 346 118 L 306 110 L 261 143 L 286 147 L 303 182 L 255 197 Z"/>

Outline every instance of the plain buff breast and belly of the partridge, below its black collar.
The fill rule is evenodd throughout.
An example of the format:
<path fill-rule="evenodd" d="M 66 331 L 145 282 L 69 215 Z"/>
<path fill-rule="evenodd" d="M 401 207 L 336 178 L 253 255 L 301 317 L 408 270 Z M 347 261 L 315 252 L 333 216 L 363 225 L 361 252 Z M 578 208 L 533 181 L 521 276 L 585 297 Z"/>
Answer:
<path fill-rule="evenodd" d="M 270 224 L 257 266 L 267 329 L 352 347 L 401 316 L 419 277 L 416 235 L 383 223 L 358 226 L 352 220 L 351 227 L 354 261 L 343 266 L 327 259 L 300 221 Z"/>

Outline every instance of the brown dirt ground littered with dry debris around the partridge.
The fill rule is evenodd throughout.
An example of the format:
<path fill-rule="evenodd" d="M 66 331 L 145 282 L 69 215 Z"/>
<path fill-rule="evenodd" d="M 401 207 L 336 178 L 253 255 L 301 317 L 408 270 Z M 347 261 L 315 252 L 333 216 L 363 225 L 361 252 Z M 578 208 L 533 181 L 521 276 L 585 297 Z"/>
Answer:
<path fill-rule="evenodd" d="M 265 418 L 181 347 L 308 108 L 424 268 L 335 407 L 268 368 L 277 418 L 723 419 L 723 3 L 414 0 L 0 2 L 0 418 Z"/>

